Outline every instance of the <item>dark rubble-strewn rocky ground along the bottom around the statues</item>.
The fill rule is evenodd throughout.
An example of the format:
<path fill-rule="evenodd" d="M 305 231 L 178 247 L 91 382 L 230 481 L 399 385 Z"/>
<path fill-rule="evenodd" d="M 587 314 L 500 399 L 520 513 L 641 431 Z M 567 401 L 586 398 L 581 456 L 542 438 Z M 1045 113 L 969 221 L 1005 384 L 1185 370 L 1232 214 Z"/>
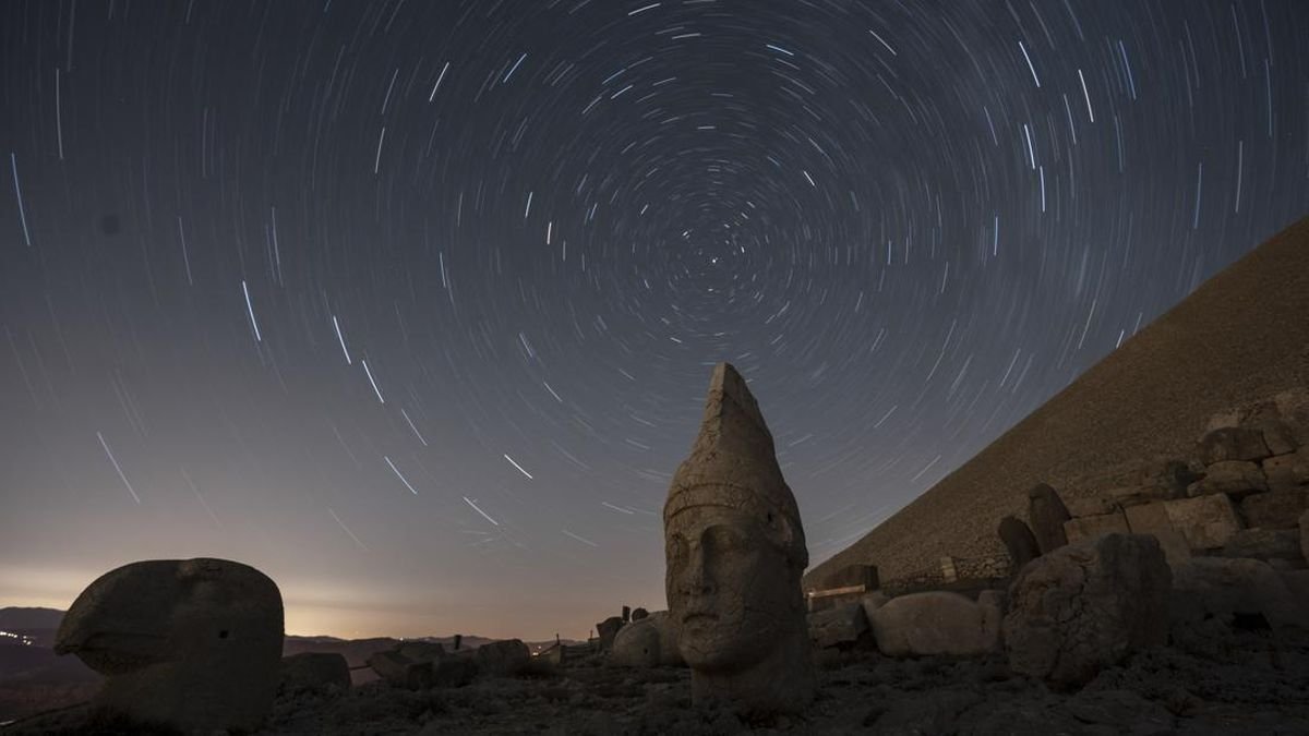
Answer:
<path fill-rule="evenodd" d="M 1309 638 L 1215 629 L 1186 646 L 1139 652 L 1076 693 L 1013 674 L 1001 655 L 894 660 L 825 651 L 817 702 L 801 718 L 745 723 L 692 707 L 690 672 L 624 669 L 593 657 L 456 689 L 279 698 L 264 735 L 546 733 L 1309 733 Z M 84 710 L 0 729 L 17 733 L 149 733 L 92 726 Z"/>

